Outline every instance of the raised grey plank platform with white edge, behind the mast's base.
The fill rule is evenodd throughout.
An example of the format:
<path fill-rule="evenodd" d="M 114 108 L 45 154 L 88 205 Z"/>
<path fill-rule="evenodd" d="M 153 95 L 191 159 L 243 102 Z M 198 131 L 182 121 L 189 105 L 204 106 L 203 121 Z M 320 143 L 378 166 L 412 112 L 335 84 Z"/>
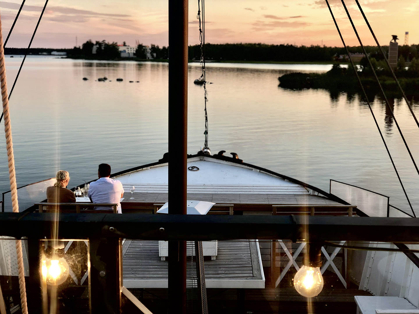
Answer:
<path fill-rule="evenodd" d="M 168 261 L 158 255 L 158 241 L 126 240 L 122 248 L 124 286 L 167 288 Z M 188 269 L 195 263 L 188 260 Z M 258 242 L 218 241 L 216 260 L 204 260 L 207 288 L 264 288 Z M 189 274 L 188 274 L 189 276 Z"/>

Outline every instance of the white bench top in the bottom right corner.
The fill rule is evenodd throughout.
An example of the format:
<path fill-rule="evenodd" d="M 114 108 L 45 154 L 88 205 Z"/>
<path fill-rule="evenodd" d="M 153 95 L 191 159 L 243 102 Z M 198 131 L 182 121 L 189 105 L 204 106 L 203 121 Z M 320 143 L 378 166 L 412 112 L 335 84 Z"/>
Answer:
<path fill-rule="evenodd" d="M 354 298 L 357 314 L 419 313 L 416 306 L 398 296 L 354 296 Z"/>

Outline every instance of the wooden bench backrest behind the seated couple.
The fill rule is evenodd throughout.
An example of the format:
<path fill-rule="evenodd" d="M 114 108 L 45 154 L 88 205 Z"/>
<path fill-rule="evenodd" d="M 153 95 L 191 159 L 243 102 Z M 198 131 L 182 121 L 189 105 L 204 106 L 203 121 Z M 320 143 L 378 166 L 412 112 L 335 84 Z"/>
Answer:
<path fill-rule="evenodd" d="M 38 210 L 40 213 L 44 213 L 44 212 L 52 212 L 52 211 L 56 211 L 56 208 L 60 207 L 60 206 L 65 206 L 65 209 L 58 209 L 59 212 L 61 213 L 85 213 L 85 214 L 89 214 L 89 213 L 93 213 L 93 214 L 100 214 L 100 213 L 105 213 L 105 214 L 117 214 L 118 211 L 116 209 L 116 206 L 118 206 L 118 204 L 116 203 L 81 203 L 81 202 L 76 202 L 76 203 L 36 203 L 36 206 L 38 206 Z M 84 208 L 90 208 L 90 207 L 95 207 L 95 206 L 108 206 L 108 207 L 112 207 L 112 209 L 98 209 L 98 210 L 94 210 L 94 209 L 84 209 Z M 69 207 L 74 207 L 74 209 L 68 209 Z"/>

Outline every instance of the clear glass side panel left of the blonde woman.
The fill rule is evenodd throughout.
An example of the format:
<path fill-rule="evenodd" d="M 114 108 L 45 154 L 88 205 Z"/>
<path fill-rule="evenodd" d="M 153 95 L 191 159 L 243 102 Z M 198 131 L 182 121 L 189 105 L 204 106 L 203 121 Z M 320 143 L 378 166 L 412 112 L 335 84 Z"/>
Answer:
<path fill-rule="evenodd" d="M 54 185 L 56 182 L 55 178 L 44 180 L 41 182 L 31 183 L 21 188 L 18 188 L 18 202 L 19 202 L 19 211 L 24 211 L 26 208 L 29 208 L 34 205 L 34 203 L 39 203 L 47 198 L 47 188 Z M 4 211 L 12 212 L 12 198 L 11 192 L 3 193 L 3 208 Z"/>

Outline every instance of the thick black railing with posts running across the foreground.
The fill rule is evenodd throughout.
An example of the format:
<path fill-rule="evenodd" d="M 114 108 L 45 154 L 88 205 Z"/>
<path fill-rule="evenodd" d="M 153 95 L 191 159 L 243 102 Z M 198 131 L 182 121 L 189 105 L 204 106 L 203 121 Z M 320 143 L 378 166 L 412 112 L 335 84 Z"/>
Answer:
<path fill-rule="evenodd" d="M 58 239 L 89 241 L 92 313 L 108 313 L 109 309 L 119 312 L 121 309 L 121 239 L 419 242 L 419 221 L 409 218 L 230 215 L 226 219 L 219 215 L 62 213 L 56 219 L 53 213 L 0 215 L 0 235 L 28 239 L 28 291 L 31 291 L 28 304 L 35 309 L 41 306 L 39 241 L 51 237 L 54 224 L 59 225 Z M 331 255 L 329 257 L 333 260 Z"/>

